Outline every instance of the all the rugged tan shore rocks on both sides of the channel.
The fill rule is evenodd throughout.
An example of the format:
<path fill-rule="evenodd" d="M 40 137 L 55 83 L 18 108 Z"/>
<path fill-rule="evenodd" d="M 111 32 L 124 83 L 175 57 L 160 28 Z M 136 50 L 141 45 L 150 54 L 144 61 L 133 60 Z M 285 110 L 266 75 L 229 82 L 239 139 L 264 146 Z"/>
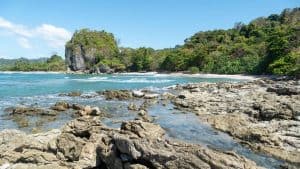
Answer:
<path fill-rule="evenodd" d="M 71 113 L 74 120 L 61 129 L 37 134 L 1 131 L 0 168 L 262 168 L 232 151 L 166 138 L 148 107 L 169 102 L 252 150 L 286 161 L 282 168 L 300 166 L 299 81 L 259 79 L 177 85 L 164 93 L 113 90 L 98 94 L 107 100 L 142 101 L 128 105 L 128 110 L 138 112 L 137 117 L 114 129 L 101 122 L 108 114 L 98 107 L 60 101 L 49 108 L 7 108 L 7 118 L 25 126 L 28 116 L 47 123 L 60 113 Z M 78 92 L 62 95 L 86 97 Z"/>

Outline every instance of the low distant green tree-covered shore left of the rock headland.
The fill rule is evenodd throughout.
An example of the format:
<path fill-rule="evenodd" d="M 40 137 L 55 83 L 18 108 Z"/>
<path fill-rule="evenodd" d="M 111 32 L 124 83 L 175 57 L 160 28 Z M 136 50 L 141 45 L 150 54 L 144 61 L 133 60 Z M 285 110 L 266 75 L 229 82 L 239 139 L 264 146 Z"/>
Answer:
<path fill-rule="evenodd" d="M 65 71 L 65 61 L 61 56 L 52 55 L 49 59 L 1 59 L 0 70 L 5 71 Z"/>

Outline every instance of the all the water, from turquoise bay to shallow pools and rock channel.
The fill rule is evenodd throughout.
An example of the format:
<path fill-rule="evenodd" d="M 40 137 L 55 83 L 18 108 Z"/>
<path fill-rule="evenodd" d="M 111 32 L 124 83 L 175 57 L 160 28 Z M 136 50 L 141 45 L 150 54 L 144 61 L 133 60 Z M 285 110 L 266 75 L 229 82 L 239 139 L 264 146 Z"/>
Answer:
<path fill-rule="evenodd" d="M 2 115 L 7 107 L 17 105 L 35 105 L 50 107 L 57 101 L 65 100 L 69 103 L 98 106 L 109 117 L 103 122 L 110 127 L 119 127 L 121 121 L 131 120 L 137 116 L 137 112 L 128 111 L 127 101 L 107 101 L 96 95 L 96 91 L 109 89 L 142 89 L 148 88 L 156 92 L 166 91 L 166 87 L 175 84 L 191 82 L 219 82 L 240 81 L 228 78 L 201 78 L 191 76 L 170 76 L 161 74 L 120 74 L 120 75 L 68 75 L 46 73 L 0 73 L 0 130 L 6 128 L 18 128 L 18 125 L 5 119 Z M 81 91 L 84 95 L 95 96 L 93 98 L 59 96 L 60 93 Z M 130 101 L 131 102 L 131 101 Z M 134 101 L 141 104 L 141 101 Z M 192 113 L 182 113 L 174 110 L 171 104 L 151 106 L 149 114 L 155 116 L 155 123 L 160 124 L 168 134 L 168 137 L 197 143 L 215 149 L 235 151 L 257 162 L 266 168 L 276 168 L 280 161 L 262 154 L 254 153 L 235 142 L 225 133 L 212 129 L 202 123 Z M 71 120 L 70 114 L 61 114 L 54 121 L 38 126 L 41 130 L 60 128 Z M 38 119 L 32 118 L 31 123 L 37 123 Z M 22 128 L 31 132 L 32 126 Z"/>

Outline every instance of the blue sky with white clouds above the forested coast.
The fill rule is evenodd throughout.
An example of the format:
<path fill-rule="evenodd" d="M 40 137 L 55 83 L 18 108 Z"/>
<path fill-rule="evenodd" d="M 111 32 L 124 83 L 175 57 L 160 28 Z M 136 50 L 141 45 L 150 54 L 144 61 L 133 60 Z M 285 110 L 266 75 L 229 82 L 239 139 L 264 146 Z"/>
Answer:
<path fill-rule="evenodd" d="M 82 28 L 111 32 L 122 47 L 169 48 L 294 7 L 300 0 L 0 0 L 0 58 L 64 56 Z"/>

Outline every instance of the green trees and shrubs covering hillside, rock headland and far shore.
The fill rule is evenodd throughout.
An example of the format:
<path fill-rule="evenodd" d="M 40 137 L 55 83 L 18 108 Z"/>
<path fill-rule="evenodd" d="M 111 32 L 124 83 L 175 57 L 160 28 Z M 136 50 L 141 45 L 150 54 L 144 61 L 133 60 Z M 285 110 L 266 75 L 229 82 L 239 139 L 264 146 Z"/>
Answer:
<path fill-rule="evenodd" d="M 119 48 L 113 34 L 82 29 L 66 44 L 80 47 L 88 68 L 115 71 L 189 71 L 220 74 L 300 74 L 300 8 L 260 17 L 232 29 L 198 32 L 175 48 Z M 89 53 L 91 52 L 91 53 Z M 1 67 L 1 65 L 0 65 Z M 3 67 L 3 66 L 2 66 Z M 7 68 L 6 68 L 7 69 Z M 21 59 L 10 70 L 64 70 L 61 58 L 30 63 Z"/>

